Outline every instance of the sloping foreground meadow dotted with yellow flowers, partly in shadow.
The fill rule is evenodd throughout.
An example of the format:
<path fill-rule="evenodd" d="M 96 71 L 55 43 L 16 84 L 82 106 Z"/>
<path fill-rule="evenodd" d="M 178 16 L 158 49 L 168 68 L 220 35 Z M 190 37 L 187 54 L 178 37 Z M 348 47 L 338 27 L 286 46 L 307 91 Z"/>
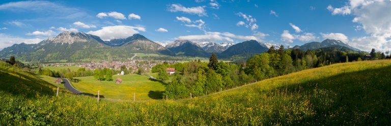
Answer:
<path fill-rule="evenodd" d="M 1 65 L 1 64 L 0 64 Z M 4 65 L 3 65 L 4 66 Z M 207 97 L 149 102 L 96 99 L 15 85 L 1 67 L 0 123 L 16 125 L 387 125 L 391 60 L 361 61 L 271 78 Z M 15 70 L 16 72 L 19 72 Z M 29 75 L 28 73 L 23 73 Z M 13 77 L 15 78 L 15 77 Z M 25 83 L 32 78 L 25 78 Z M 36 78 L 40 80 L 39 78 Z M 12 79 L 11 79 L 12 80 Z M 15 85 L 15 86 L 13 86 Z M 13 88 L 6 88 L 13 86 Z M 33 88 L 34 87 L 34 88 Z M 22 90 L 22 91 L 19 91 Z M 30 93 L 35 92 L 35 93 Z"/>

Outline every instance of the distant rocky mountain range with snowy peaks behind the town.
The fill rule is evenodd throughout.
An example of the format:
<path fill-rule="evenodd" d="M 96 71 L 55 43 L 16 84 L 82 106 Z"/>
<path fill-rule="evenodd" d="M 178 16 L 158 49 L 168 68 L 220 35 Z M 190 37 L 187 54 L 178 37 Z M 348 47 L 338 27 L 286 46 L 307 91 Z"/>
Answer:
<path fill-rule="evenodd" d="M 16 55 L 18 60 L 38 62 L 121 60 L 129 59 L 134 56 L 134 53 L 192 57 L 209 57 L 211 53 L 216 53 L 220 58 L 230 58 L 235 55 L 262 53 L 271 46 L 276 45 L 260 43 L 255 40 L 238 44 L 176 40 L 162 46 L 139 34 L 134 34 L 125 39 L 103 41 L 98 36 L 65 31 L 38 44 L 21 43 L 4 48 L 0 51 L 0 58 Z M 328 39 L 322 43 L 312 42 L 293 48 L 307 50 L 334 46 L 358 50 L 341 41 Z"/>

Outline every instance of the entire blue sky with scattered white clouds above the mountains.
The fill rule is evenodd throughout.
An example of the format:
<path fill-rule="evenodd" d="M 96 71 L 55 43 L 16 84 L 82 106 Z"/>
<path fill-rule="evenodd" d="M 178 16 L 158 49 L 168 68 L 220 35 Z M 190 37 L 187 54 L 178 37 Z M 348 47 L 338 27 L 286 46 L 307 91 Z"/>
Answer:
<path fill-rule="evenodd" d="M 39 43 L 63 31 L 103 40 L 141 34 L 175 40 L 295 46 L 341 40 L 391 49 L 390 0 L 0 1 L 0 49 Z"/>

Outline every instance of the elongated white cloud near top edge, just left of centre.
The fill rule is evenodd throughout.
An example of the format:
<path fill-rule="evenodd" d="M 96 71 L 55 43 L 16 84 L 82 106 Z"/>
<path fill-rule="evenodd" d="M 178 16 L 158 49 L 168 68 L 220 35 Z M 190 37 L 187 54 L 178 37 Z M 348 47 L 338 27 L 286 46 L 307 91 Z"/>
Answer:
<path fill-rule="evenodd" d="M 169 6 L 170 12 L 183 12 L 187 14 L 195 14 L 198 16 L 207 16 L 206 10 L 204 7 L 198 6 L 198 7 L 191 7 L 186 8 L 180 4 L 172 4 Z"/>

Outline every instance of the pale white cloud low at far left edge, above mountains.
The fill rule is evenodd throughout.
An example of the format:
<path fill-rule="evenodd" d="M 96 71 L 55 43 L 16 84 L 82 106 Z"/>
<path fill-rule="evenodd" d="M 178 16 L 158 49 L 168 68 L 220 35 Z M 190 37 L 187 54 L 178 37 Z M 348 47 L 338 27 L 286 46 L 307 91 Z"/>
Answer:
<path fill-rule="evenodd" d="M 41 38 L 33 38 L 33 39 L 20 38 L 20 37 L 14 37 L 6 34 L 0 34 L 0 38 L 2 38 L 0 39 L 0 48 L 6 48 L 19 43 L 36 44 L 43 40 Z"/>

